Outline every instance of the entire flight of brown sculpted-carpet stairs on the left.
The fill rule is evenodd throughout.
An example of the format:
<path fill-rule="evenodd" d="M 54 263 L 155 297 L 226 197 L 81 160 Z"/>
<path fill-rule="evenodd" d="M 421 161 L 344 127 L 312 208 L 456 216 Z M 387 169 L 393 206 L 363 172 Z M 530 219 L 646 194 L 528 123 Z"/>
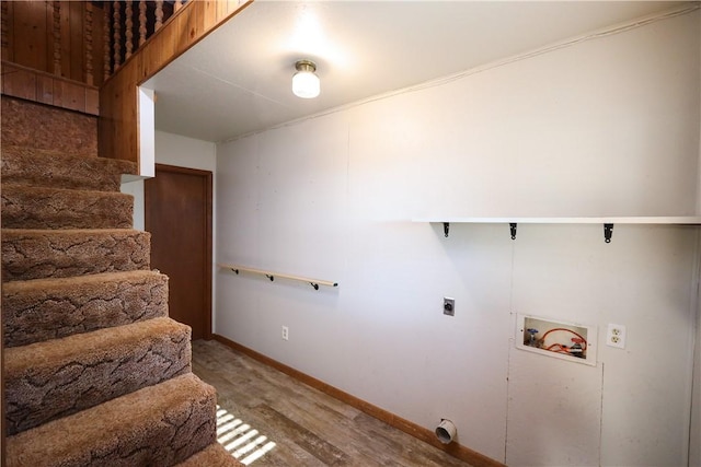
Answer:
<path fill-rule="evenodd" d="M 131 229 L 119 180 L 134 170 L 2 145 L 8 467 L 240 465 L 216 441 L 216 394 L 168 317 L 150 235 Z"/>

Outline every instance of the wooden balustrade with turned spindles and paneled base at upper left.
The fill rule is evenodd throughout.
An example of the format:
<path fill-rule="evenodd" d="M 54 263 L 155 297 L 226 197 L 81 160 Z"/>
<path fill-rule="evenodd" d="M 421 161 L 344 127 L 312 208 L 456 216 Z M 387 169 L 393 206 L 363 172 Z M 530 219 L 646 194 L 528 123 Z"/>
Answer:
<path fill-rule="evenodd" d="M 183 3 L 0 2 L 2 94 L 99 115 L 97 87 Z"/>

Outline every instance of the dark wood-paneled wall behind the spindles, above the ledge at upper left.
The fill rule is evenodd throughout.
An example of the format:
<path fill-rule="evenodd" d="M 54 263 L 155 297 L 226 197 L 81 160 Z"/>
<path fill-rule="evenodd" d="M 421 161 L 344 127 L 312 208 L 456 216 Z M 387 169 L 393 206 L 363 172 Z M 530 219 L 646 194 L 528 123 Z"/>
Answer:
<path fill-rule="evenodd" d="M 4 62 L 88 85 L 103 82 L 102 2 L 2 1 Z"/>

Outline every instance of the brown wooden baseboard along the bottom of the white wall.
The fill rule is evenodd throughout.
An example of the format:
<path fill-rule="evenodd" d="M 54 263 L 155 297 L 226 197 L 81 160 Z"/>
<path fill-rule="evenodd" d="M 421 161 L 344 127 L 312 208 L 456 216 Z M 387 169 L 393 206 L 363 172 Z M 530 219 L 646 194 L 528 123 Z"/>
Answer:
<path fill-rule="evenodd" d="M 337 387 L 333 387 L 321 380 L 317 380 L 315 377 L 304 374 L 299 370 L 295 370 L 291 366 L 288 366 L 284 363 L 278 362 L 277 360 L 273 360 L 269 357 L 266 357 L 260 352 L 256 352 L 253 349 L 250 349 L 245 346 L 234 342 L 231 339 L 228 339 L 218 334 L 212 334 L 212 338 L 216 341 L 221 342 L 233 350 L 237 350 L 241 353 L 244 353 L 251 357 L 254 360 L 257 360 L 261 363 L 272 366 L 285 373 L 286 375 L 291 376 L 301 383 L 304 383 L 308 386 L 319 389 L 322 393 L 327 394 L 329 396 L 341 400 L 342 402 L 345 402 L 352 407 L 355 407 L 356 409 L 361 410 L 365 413 L 371 417 L 375 417 L 376 419 L 381 420 L 384 423 L 391 427 L 394 427 L 398 430 L 403 431 L 404 433 L 411 434 L 417 440 L 428 443 L 432 446 L 437 447 L 440 451 L 444 451 L 460 460 L 464 460 L 474 467 L 506 467 L 505 464 L 494 460 L 461 444 L 457 444 L 457 443 L 450 443 L 447 445 L 443 444 L 440 441 L 436 439 L 435 433 L 428 429 L 425 429 L 414 422 L 411 422 L 406 419 L 398 417 L 394 413 L 391 413 L 377 406 L 374 406 L 372 404 L 367 402 L 363 399 L 359 399 L 353 396 L 352 394 L 341 390 Z"/>

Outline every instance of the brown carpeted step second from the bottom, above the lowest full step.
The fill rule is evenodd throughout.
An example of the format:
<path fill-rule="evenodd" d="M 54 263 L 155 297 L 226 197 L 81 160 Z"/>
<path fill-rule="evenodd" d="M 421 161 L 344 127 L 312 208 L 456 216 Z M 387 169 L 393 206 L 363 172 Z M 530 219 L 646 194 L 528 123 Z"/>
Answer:
<path fill-rule="evenodd" d="M 5 349 L 8 433 L 189 373 L 189 338 L 163 317 Z"/>

